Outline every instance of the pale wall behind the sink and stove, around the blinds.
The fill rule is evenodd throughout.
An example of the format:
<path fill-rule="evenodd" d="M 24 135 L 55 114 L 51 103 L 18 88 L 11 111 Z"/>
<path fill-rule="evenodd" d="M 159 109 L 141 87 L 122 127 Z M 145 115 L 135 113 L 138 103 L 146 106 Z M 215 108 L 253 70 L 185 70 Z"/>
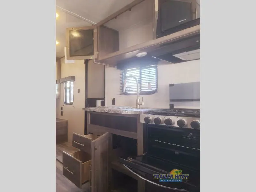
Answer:
<path fill-rule="evenodd" d="M 158 65 L 158 92 L 143 96 L 143 107 L 169 107 L 169 84 L 200 81 L 200 60 L 170 64 L 161 61 Z M 112 104 L 116 99 L 118 106 L 136 106 L 136 95 L 120 95 L 120 71 L 116 68 L 106 68 L 106 105 Z M 142 98 L 140 96 L 140 99 Z M 174 106 L 180 108 L 200 108 L 200 102 L 175 102 Z"/>

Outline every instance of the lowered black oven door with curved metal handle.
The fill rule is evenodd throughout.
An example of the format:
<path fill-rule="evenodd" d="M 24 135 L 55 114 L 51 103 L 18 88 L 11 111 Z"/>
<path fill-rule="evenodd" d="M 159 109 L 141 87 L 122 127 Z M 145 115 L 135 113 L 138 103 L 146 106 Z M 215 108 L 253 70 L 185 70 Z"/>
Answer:
<path fill-rule="evenodd" d="M 154 156 L 140 156 L 136 158 L 128 157 L 127 159 L 119 158 L 119 162 L 123 164 L 123 166 L 132 172 L 134 175 L 140 177 L 141 179 L 145 180 L 145 191 L 147 192 L 199 192 L 199 183 L 198 185 L 195 184 L 195 180 L 190 182 L 188 180 L 182 180 L 182 182 L 160 182 L 159 179 L 154 179 L 154 174 L 169 174 L 168 171 L 163 170 L 158 166 L 159 164 L 164 165 L 164 167 L 168 167 L 167 169 L 182 169 L 182 173 L 189 174 L 189 177 L 198 178 L 199 182 L 199 172 L 196 170 L 189 170 L 187 167 L 182 167 L 180 165 L 169 164 L 161 159 L 158 159 Z M 166 165 L 166 166 L 165 166 Z M 170 171 L 171 171 L 170 170 Z"/>

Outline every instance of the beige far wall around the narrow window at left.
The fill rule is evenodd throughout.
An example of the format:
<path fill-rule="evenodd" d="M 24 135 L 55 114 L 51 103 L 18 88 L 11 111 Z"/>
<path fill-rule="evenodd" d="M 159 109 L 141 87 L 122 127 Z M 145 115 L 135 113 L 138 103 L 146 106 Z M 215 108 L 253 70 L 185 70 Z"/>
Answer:
<path fill-rule="evenodd" d="M 64 85 L 60 84 L 60 99 L 56 100 L 56 117 L 68 120 L 68 141 L 72 141 L 72 133 L 84 134 L 84 98 L 85 98 L 85 65 L 84 60 L 66 64 L 61 58 L 61 78 L 75 76 L 74 104 L 64 104 Z M 80 93 L 77 90 L 80 89 Z M 61 116 L 63 107 L 63 116 Z"/>

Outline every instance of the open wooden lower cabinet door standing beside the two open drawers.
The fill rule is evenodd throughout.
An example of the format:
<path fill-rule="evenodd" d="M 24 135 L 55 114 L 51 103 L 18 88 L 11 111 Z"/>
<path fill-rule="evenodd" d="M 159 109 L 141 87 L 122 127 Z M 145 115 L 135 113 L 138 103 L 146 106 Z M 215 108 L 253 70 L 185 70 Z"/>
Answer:
<path fill-rule="evenodd" d="M 107 192 L 109 176 L 110 133 L 106 132 L 91 143 L 92 183 L 91 192 Z"/>

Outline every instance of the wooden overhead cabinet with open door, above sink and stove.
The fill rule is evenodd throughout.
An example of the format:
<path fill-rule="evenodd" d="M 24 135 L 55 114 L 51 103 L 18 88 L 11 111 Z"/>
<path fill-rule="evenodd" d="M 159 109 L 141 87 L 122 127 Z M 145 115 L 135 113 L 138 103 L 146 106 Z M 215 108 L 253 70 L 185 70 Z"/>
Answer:
<path fill-rule="evenodd" d="M 169 14 L 168 10 L 163 9 L 165 2 L 135 0 L 95 26 L 68 28 L 68 60 L 95 59 L 96 62 L 116 66 L 118 62 L 135 57 L 139 52 L 154 56 L 154 50 L 162 45 L 200 33 L 200 19 L 196 20 L 200 17 L 200 7 L 196 0 L 168 1 L 171 3 L 166 5 L 167 8 L 173 10 L 174 6 L 182 7 L 186 14 Z M 172 26 L 176 26 L 174 31 L 166 25 L 169 16 L 174 18 L 173 15 L 180 22 L 177 25 L 172 23 Z M 183 16 L 193 23 L 180 21 Z M 176 20 L 173 19 L 173 22 Z M 183 27 L 177 28 L 182 22 L 185 23 Z M 162 28 L 164 31 L 161 31 Z"/>

